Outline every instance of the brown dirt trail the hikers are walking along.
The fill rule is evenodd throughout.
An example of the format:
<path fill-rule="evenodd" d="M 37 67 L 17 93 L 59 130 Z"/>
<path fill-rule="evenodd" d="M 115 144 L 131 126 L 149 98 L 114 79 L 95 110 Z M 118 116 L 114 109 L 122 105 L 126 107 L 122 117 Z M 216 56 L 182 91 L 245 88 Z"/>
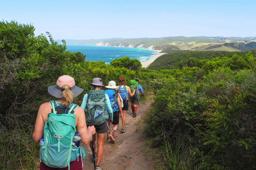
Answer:
<path fill-rule="evenodd" d="M 105 134 L 104 151 L 101 159 L 100 167 L 102 170 L 149 170 L 150 165 L 145 159 L 145 140 L 141 137 L 143 135 L 143 129 L 137 129 L 137 123 L 141 119 L 140 111 L 143 113 L 148 109 L 151 101 L 147 101 L 145 104 L 139 104 L 137 117 L 132 117 L 131 103 L 129 103 L 129 111 L 126 112 L 125 129 L 127 132 L 121 133 L 122 122 L 119 121 L 119 127 L 115 133 L 116 142 L 110 143 L 106 141 L 107 135 Z M 110 126 L 111 130 L 113 125 Z M 96 141 L 97 142 L 97 141 Z M 83 159 L 84 169 L 94 169 L 92 162 L 92 152 L 88 145 L 82 146 L 85 150 L 86 157 Z"/>

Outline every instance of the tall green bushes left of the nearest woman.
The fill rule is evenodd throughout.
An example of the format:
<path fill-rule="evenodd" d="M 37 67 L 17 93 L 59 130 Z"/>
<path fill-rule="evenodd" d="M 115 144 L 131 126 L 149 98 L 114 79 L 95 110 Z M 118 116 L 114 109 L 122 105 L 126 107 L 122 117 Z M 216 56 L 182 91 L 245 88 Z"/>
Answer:
<path fill-rule="evenodd" d="M 81 69 L 84 56 L 66 52 L 65 41 L 58 44 L 50 33 L 49 40 L 34 37 L 31 25 L 0 22 L 0 28 L 0 168 L 36 169 L 38 145 L 31 135 L 38 107 L 53 99 L 47 87 L 60 75 Z M 79 78 L 75 77 L 78 84 Z"/>

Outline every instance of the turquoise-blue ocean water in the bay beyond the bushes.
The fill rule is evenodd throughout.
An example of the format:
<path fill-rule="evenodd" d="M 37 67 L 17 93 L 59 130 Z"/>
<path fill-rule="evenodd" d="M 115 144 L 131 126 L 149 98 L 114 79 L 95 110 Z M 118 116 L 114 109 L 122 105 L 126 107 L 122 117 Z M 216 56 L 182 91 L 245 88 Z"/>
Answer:
<path fill-rule="evenodd" d="M 127 47 L 105 47 L 93 45 L 67 45 L 67 50 L 70 52 L 81 52 L 86 55 L 86 61 L 104 61 L 105 64 L 110 64 L 116 58 L 128 56 L 131 60 L 137 59 L 140 62 L 145 62 L 155 55 L 157 52 L 149 49 L 127 48 Z"/>

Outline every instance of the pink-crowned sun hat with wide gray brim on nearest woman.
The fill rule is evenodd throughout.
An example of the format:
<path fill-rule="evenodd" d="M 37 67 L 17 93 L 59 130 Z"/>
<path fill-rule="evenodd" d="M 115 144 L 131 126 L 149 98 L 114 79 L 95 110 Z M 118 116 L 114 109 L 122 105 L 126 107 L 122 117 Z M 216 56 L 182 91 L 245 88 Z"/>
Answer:
<path fill-rule="evenodd" d="M 64 86 L 65 84 L 67 84 L 68 86 L 70 86 L 70 90 L 73 93 L 73 97 L 77 97 L 78 95 L 80 95 L 84 89 L 79 88 L 75 85 L 75 80 L 73 77 L 70 77 L 69 75 L 62 75 L 61 77 L 59 77 L 59 79 L 57 80 L 56 85 L 54 86 L 50 86 L 48 88 L 48 92 L 50 95 L 57 97 L 59 99 L 61 99 L 61 95 L 62 95 L 62 86 Z"/>

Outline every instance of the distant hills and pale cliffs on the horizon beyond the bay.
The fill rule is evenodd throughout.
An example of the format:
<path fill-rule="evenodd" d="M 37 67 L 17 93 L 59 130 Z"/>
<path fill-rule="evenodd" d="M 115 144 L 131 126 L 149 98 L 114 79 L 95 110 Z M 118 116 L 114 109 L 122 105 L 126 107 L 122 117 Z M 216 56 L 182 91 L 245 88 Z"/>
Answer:
<path fill-rule="evenodd" d="M 228 51 L 239 52 L 256 49 L 256 37 L 163 37 L 99 40 L 67 40 L 69 44 L 90 44 L 150 48 L 155 50 Z"/>

